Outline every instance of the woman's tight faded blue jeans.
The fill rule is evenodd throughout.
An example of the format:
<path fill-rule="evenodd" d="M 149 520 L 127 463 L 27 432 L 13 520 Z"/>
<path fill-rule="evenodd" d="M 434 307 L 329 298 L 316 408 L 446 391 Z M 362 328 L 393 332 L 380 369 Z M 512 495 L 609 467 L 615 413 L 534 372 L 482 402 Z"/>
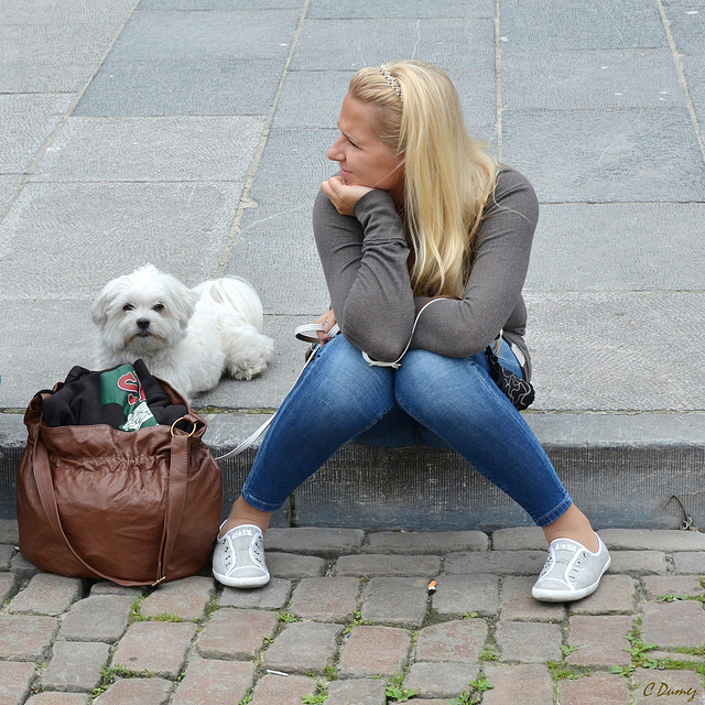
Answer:
<path fill-rule="evenodd" d="M 410 350 L 399 369 L 370 367 L 341 335 L 317 348 L 276 412 L 242 488 L 274 511 L 344 443 L 457 451 L 540 527 L 572 500 L 541 444 L 489 376 L 485 352 L 457 359 Z M 521 375 L 508 343 L 502 367 Z"/>

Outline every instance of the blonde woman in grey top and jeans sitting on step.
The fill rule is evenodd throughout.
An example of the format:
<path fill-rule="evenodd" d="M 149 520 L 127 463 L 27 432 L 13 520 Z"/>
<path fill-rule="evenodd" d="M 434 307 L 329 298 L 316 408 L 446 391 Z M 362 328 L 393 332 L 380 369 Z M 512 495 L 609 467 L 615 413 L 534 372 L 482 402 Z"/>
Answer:
<path fill-rule="evenodd" d="M 549 557 L 534 597 L 589 595 L 609 566 L 607 549 L 484 352 L 495 341 L 500 364 L 529 378 L 521 290 L 533 189 L 468 137 L 455 87 L 429 64 L 358 72 L 338 127 L 327 156 L 339 173 L 322 184 L 313 218 L 332 310 L 220 529 L 214 575 L 235 587 L 265 584 L 271 512 L 357 438 L 456 449 L 542 527 Z M 330 337 L 336 324 L 341 335 Z M 401 366 L 380 366 L 410 339 Z"/>

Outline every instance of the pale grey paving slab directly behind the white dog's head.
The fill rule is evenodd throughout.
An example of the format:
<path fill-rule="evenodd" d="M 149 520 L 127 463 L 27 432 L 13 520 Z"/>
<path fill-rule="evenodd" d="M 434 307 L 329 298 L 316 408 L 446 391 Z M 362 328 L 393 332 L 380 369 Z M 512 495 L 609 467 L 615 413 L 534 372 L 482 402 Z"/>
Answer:
<path fill-rule="evenodd" d="M 224 219 L 238 198 L 237 183 L 28 185 L 0 225 L 3 300 L 32 302 L 34 308 L 25 311 L 41 311 L 47 300 L 93 302 L 110 280 L 148 262 L 194 286 L 212 276 L 228 237 Z M 53 238 L 41 242 L 37 230 L 51 230 Z M 194 238 L 196 259 L 191 249 Z M 133 243 L 128 260 L 126 240 Z M 90 258 L 68 279 L 65 272 L 72 271 L 75 261 L 72 250 L 82 246 L 100 247 L 101 257 Z M 28 288 L 28 281 L 34 286 Z M 3 319 L 21 321 L 20 311 L 6 307 Z M 90 349 L 94 326 L 88 308 L 72 311 L 64 302 L 53 315 L 64 312 L 67 324 L 84 325 L 83 338 L 88 338 Z M 7 376 L 4 371 L 3 381 Z"/>

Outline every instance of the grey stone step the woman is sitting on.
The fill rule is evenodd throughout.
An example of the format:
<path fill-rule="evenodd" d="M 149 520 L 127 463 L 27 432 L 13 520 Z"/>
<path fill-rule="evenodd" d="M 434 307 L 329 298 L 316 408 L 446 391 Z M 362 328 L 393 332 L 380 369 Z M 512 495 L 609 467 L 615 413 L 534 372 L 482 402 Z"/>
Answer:
<path fill-rule="evenodd" d="M 206 415 L 216 457 L 267 415 Z M 525 414 L 575 502 L 600 529 L 705 525 L 705 414 Z M 15 517 L 15 479 L 25 444 L 20 414 L 0 414 L 0 518 Z M 302 440 L 302 443 L 304 440 Z M 219 463 L 224 514 L 237 498 L 259 440 Z M 495 530 L 530 525 L 524 511 L 452 451 L 348 443 L 304 482 L 273 525 L 370 531 Z"/>

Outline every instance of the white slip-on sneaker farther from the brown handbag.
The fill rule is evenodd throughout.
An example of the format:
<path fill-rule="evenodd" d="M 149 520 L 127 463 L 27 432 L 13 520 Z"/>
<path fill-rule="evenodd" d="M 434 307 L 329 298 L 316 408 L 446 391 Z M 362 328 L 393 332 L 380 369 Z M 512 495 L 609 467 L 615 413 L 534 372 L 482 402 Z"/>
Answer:
<path fill-rule="evenodd" d="M 597 540 L 597 553 L 572 539 L 552 541 L 549 557 L 531 589 L 534 598 L 544 603 L 567 603 L 592 595 L 611 561 L 603 540 L 599 536 Z"/>

